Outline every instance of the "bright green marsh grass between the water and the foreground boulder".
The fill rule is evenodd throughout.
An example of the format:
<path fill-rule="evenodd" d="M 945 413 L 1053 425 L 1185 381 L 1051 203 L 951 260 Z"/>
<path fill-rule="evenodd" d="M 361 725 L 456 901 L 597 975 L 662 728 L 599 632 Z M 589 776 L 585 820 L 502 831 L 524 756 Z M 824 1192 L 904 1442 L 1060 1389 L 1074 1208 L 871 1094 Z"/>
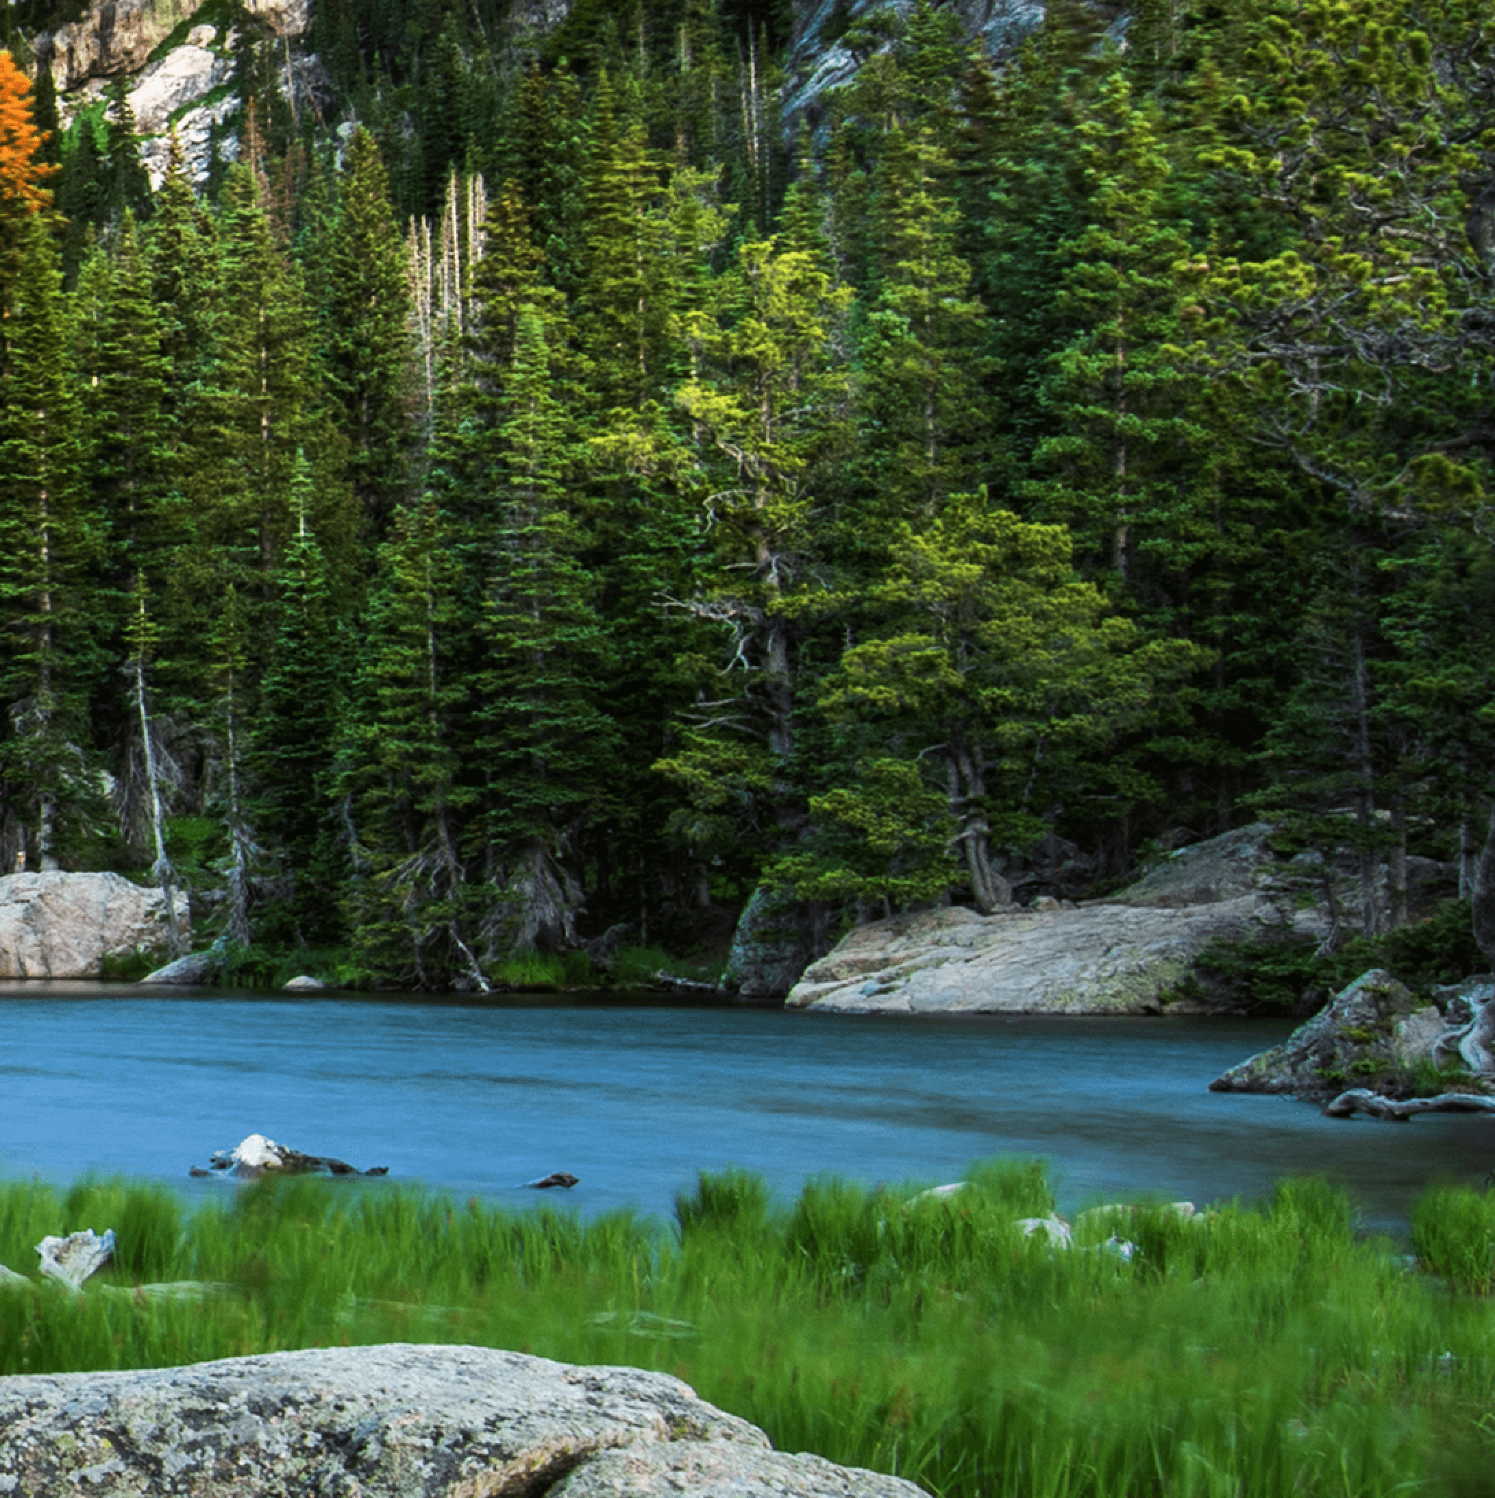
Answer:
<path fill-rule="evenodd" d="M 64 1225 L 120 1239 L 82 1297 L 0 1293 L 0 1372 L 475 1342 L 664 1369 L 783 1449 L 939 1495 L 1483 1491 L 1495 1207 L 1482 1192 L 1419 1207 L 1437 1278 L 1359 1237 L 1321 1182 L 1194 1221 L 1101 1213 L 1068 1252 L 1016 1227 L 1052 1207 L 1025 1164 L 978 1167 L 942 1197 L 825 1177 L 788 1206 L 755 1176 L 703 1174 L 673 1230 L 389 1183 L 226 1188 L 190 1213 L 120 1182 L 0 1186 L 12 1267 Z M 1140 1252 L 1119 1257 L 1112 1233 Z M 234 1288 L 120 1293 L 171 1278 Z"/>

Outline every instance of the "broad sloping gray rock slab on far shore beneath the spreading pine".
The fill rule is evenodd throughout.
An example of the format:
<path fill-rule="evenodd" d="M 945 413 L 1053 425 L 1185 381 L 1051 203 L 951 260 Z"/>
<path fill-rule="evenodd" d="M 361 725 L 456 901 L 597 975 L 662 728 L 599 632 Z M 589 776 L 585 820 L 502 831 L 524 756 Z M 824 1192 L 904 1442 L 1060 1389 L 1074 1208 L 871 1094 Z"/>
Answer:
<path fill-rule="evenodd" d="M 788 1004 L 852 1014 L 1185 1013 L 1198 1007 L 1180 995 L 1206 945 L 1294 929 L 1260 894 L 995 915 L 953 906 L 858 926 L 806 969 Z"/>

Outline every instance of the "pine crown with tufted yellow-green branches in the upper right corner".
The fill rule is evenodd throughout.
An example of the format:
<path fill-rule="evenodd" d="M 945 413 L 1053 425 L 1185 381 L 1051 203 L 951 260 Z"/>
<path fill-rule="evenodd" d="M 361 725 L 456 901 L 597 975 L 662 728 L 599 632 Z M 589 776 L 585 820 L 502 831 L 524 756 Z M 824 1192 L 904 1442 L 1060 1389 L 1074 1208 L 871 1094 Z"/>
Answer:
<path fill-rule="evenodd" d="M 1476 147 L 1476 40 L 1461 7 L 1408 24 L 1386 0 L 1267 4 L 1200 165 L 1270 217 L 1258 259 L 1221 258 L 1203 292 L 1216 374 L 1252 437 L 1353 509 L 1483 491 L 1465 377 L 1495 328 L 1495 198 Z"/>

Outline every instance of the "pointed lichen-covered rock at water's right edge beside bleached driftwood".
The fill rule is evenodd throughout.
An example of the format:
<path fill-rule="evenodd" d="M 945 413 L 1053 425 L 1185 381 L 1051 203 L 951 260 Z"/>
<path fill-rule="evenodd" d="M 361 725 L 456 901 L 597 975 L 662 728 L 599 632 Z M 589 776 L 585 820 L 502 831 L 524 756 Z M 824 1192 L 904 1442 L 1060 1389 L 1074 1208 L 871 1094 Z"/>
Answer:
<path fill-rule="evenodd" d="M 1414 1037 L 1425 1023 L 1411 990 L 1380 968 L 1341 989 L 1281 1044 L 1231 1067 L 1212 1092 L 1281 1092 L 1333 1098 L 1345 1088 L 1386 1079 L 1419 1059 Z M 1441 1026 L 1440 1026 L 1441 1029 Z M 1431 1050 L 1432 1040 L 1428 1040 Z"/>

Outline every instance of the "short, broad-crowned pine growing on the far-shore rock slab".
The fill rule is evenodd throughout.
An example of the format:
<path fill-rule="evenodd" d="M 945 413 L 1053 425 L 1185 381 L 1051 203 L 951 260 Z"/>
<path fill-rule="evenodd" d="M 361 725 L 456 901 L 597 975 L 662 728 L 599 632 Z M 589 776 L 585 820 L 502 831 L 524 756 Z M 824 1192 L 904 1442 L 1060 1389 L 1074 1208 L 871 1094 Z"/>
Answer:
<path fill-rule="evenodd" d="M 842 655 L 819 698 L 858 730 L 864 774 L 813 806 L 878 830 L 912 867 L 894 858 L 869 875 L 812 843 L 774 872 L 806 893 L 927 900 L 953 882 L 944 854 L 956 848 L 971 899 L 992 911 L 1010 902 L 1001 854 L 1031 846 L 1061 803 L 1147 792 L 1140 776 L 1118 774 L 1112 743 L 1158 713 L 1201 652 L 1147 641 L 1080 581 L 1062 526 L 1020 521 L 984 493 L 953 496 L 921 530 L 905 523 L 893 554 L 873 590 L 885 622 Z"/>

